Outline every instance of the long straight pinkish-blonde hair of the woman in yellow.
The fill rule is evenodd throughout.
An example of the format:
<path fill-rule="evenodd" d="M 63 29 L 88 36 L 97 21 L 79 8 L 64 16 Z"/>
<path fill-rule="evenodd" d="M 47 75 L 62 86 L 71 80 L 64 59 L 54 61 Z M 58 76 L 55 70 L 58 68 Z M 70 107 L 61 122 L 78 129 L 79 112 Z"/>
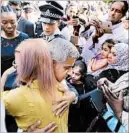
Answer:
<path fill-rule="evenodd" d="M 15 51 L 20 54 L 18 81 L 30 83 L 37 80 L 40 90 L 44 91 L 54 88 L 56 79 L 46 41 L 28 39 L 21 42 Z"/>

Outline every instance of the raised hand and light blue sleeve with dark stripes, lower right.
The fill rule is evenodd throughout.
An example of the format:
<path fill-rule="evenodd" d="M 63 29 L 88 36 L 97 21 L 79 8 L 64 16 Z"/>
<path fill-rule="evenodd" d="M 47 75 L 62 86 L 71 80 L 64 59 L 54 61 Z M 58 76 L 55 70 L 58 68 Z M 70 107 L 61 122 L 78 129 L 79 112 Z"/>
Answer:
<path fill-rule="evenodd" d="M 123 92 L 121 91 L 119 96 L 116 97 L 105 84 L 101 87 L 110 105 L 108 110 L 103 114 L 107 126 L 113 132 L 128 132 L 127 123 L 122 121 Z"/>

